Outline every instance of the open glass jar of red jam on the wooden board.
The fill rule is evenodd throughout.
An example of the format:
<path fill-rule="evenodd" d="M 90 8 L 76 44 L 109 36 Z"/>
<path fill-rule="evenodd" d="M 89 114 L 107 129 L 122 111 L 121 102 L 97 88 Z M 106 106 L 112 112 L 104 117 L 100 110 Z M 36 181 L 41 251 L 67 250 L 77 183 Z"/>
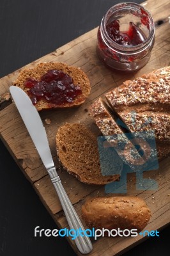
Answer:
<path fill-rule="evenodd" d="M 136 3 L 112 6 L 104 15 L 97 34 L 97 54 L 113 70 L 139 70 L 151 56 L 155 26 L 150 13 Z"/>

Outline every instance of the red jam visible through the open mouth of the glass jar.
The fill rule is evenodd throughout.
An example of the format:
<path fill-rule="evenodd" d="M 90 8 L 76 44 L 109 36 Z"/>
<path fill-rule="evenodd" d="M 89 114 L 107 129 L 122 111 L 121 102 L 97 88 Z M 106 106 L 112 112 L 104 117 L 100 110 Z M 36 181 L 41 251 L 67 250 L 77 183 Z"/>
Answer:
<path fill-rule="evenodd" d="M 144 36 L 141 29 L 135 26 L 134 22 L 129 22 L 128 31 L 121 32 L 120 21 L 112 20 L 111 23 L 106 25 L 106 30 L 114 42 L 123 46 L 135 46 L 146 40 L 146 36 Z"/>

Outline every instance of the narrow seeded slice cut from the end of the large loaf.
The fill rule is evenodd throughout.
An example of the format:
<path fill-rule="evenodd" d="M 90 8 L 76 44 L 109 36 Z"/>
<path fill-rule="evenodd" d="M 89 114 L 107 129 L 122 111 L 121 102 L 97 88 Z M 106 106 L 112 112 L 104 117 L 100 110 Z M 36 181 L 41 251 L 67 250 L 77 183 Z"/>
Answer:
<path fill-rule="evenodd" d="M 89 113 L 95 120 L 102 134 L 107 141 L 116 150 L 118 157 L 121 157 L 125 164 L 128 164 L 132 170 L 139 170 L 145 163 L 143 157 L 140 156 L 134 145 L 128 140 L 127 136 L 116 124 L 115 120 L 109 114 L 104 106 L 102 98 L 97 99 L 89 107 Z M 123 147 L 125 145 L 125 147 Z M 123 147 L 123 148 L 122 148 Z"/>

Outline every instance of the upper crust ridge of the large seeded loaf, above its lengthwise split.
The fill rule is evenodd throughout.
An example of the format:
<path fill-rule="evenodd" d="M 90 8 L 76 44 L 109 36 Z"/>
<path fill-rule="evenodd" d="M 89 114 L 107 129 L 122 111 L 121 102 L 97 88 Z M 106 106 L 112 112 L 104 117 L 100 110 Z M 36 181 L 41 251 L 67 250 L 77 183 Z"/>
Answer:
<path fill-rule="evenodd" d="M 105 94 L 112 107 L 122 111 L 170 112 L 170 67 L 125 81 Z"/>

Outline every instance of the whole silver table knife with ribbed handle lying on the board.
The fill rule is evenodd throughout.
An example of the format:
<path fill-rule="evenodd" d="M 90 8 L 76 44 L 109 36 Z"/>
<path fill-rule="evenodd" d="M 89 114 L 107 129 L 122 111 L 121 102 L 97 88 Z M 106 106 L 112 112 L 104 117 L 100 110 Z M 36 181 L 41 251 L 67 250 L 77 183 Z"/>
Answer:
<path fill-rule="evenodd" d="M 54 188 L 58 193 L 59 200 L 63 207 L 63 211 L 65 212 L 66 220 L 68 221 L 70 229 L 79 230 L 79 228 L 81 228 L 81 230 L 84 230 L 81 220 L 75 212 L 70 199 L 66 195 L 65 189 L 63 188 L 58 173 L 56 172 L 45 127 L 43 126 L 38 111 L 32 104 L 31 99 L 29 99 L 27 94 L 19 87 L 10 86 L 10 93 L 12 94 L 12 98 L 17 106 L 17 109 L 19 110 L 22 120 L 27 127 L 27 131 L 35 144 L 38 154 L 40 155 L 42 162 L 50 175 Z M 89 253 L 93 249 L 89 237 L 85 235 L 77 236 L 74 241 L 79 251 L 83 254 Z"/>

